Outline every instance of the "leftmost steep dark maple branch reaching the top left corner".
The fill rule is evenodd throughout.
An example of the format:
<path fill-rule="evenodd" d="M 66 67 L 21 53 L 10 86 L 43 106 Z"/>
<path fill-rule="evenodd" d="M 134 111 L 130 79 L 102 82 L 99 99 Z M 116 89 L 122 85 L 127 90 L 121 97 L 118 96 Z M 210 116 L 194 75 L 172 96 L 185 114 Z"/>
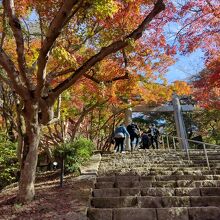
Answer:
<path fill-rule="evenodd" d="M 20 69 L 22 80 L 25 82 L 27 88 L 30 88 L 30 81 L 26 76 L 27 64 L 24 56 L 24 38 L 23 38 L 20 21 L 15 15 L 14 0 L 3 0 L 3 6 L 9 18 L 9 25 L 13 31 L 13 35 L 15 38 L 16 47 L 17 47 L 16 48 L 17 60 L 18 60 L 18 66 Z"/>

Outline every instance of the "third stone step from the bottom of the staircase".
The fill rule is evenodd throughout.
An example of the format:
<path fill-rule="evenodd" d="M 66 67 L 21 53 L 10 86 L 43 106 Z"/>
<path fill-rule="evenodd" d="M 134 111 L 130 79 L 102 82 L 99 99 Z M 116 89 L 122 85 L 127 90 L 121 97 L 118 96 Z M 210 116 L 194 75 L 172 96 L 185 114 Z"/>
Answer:
<path fill-rule="evenodd" d="M 220 187 L 203 188 L 104 188 L 93 189 L 94 197 L 118 197 L 118 196 L 220 196 Z"/>

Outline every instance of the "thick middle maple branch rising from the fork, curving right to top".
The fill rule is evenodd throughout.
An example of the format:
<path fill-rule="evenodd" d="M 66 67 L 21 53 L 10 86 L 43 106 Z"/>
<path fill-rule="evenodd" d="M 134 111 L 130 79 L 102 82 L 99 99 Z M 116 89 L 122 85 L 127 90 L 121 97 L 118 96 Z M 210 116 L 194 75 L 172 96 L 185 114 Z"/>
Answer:
<path fill-rule="evenodd" d="M 48 61 L 48 53 L 51 50 L 55 40 L 60 35 L 66 22 L 69 20 L 72 8 L 78 3 L 78 0 L 65 0 L 55 18 L 52 20 L 49 26 L 49 30 L 46 34 L 46 38 L 43 41 L 43 45 L 40 49 L 39 57 L 37 60 L 37 97 L 40 97 L 44 88 L 46 72 L 45 67 Z"/>

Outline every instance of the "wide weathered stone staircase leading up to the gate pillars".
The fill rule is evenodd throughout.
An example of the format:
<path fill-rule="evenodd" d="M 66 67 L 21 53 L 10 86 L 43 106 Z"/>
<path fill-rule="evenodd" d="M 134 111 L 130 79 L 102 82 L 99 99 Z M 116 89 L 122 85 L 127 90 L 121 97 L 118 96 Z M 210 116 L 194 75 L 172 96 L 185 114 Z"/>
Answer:
<path fill-rule="evenodd" d="M 105 154 L 90 220 L 220 220 L 220 150 Z"/>

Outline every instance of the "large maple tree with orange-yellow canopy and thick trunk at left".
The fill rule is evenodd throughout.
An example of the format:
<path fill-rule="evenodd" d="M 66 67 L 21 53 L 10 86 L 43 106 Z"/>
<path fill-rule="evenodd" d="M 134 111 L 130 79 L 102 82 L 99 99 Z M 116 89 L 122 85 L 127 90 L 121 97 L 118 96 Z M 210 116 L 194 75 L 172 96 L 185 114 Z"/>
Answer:
<path fill-rule="evenodd" d="M 18 200 L 25 202 L 35 194 L 43 126 L 59 119 L 63 92 L 74 86 L 74 99 L 80 86 L 88 86 L 98 103 L 121 104 L 137 92 L 144 97 L 144 88 L 166 97 L 154 72 L 162 74 L 173 63 L 175 47 L 167 45 L 163 27 L 177 7 L 169 0 L 3 0 L 0 10 L 0 79 L 16 94 L 24 119 Z M 161 96 L 152 92 L 144 99 Z"/>

